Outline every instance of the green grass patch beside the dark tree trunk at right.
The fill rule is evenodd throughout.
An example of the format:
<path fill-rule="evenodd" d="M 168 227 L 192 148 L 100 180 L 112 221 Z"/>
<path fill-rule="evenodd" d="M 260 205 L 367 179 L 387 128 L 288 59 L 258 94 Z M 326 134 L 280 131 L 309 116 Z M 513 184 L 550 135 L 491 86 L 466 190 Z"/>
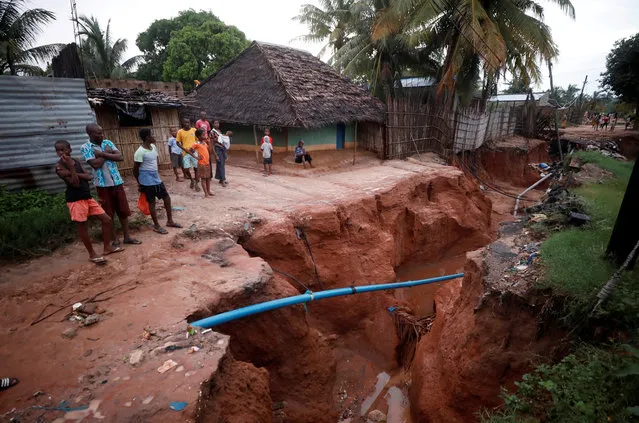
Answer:
<path fill-rule="evenodd" d="M 623 200 L 633 163 L 621 162 L 597 152 L 581 152 L 586 162 L 613 173 L 602 184 L 586 184 L 575 193 L 583 197 L 592 221 L 583 228 L 569 228 L 552 234 L 541 247 L 544 278 L 542 286 L 567 295 L 570 303 L 567 316 L 580 319 L 594 302 L 597 292 L 616 270 L 605 259 L 605 251 L 617 213 Z M 639 323 L 639 270 L 626 272 L 619 289 L 602 309 L 623 325 Z M 631 304 L 631 303 L 635 304 Z"/>

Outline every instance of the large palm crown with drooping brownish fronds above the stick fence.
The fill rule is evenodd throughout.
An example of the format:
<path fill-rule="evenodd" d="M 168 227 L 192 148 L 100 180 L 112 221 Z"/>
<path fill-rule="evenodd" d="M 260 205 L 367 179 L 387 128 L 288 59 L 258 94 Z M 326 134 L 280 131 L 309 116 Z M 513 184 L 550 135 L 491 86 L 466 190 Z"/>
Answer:
<path fill-rule="evenodd" d="M 570 0 L 550 1 L 574 19 Z M 482 65 L 485 92 L 505 69 L 524 84 L 539 82 L 539 64 L 558 55 L 544 9 L 534 0 L 394 0 L 392 9 L 412 17 L 409 27 L 422 31 L 422 42 L 446 52 L 440 88 L 447 91 L 468 93 Z"/>

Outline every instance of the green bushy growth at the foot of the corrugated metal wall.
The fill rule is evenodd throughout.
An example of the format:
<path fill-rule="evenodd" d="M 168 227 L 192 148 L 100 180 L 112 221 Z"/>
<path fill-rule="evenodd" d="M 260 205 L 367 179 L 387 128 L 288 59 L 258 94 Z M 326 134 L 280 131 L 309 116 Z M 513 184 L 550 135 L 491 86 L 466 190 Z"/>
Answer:
<path fill-rule="evenodd" d="M 40 256 L 74 238 L 64 194 L 0 188 L 0 257 Z"/>

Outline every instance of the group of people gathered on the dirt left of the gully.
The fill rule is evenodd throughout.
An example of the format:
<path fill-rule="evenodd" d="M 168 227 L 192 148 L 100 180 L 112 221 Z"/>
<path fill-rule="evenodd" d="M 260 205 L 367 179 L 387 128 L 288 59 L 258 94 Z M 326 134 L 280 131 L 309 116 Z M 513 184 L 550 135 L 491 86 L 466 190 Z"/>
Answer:
<path fill-rule="evenodd" d="M 105 264 L 106 256 L 124 251 L 118 239 L 113 219 L 118 217 L 123 232 L 124 244 L 141 244 L 133 238 L 129 231 L 128 218 L 131 215 L 129 202 L 124 191 L 124 180 L 118 170 L 117 162 L 124 160 L 122 153 L 110 140 L 104 139 L 100 125 L 87 125 L 86 133 L 89 140 L 82 145 L 80 153 L 83 161 L 91 168 L 91 173 L 84 170 L 83 163 L 71 157 L 72 149 L 68 141 L 59 140 L 55 143 L 55 152 L 60 160 L 56 163 L 56 173 L 66 184 L 66 202 L 71 214 L 71 220 L 77 224 L 80 239 L 89 253 L 89 260 L 95 264 Z M 200 114 L 200 119 L 191 127 L 191 121 L 184 119 L 182 128 L 171 129 L 168 148 L 171 165 L 177 181 L 190 181 L 190 188 L 203 191 L 204 197 L 214 194 L 211 191 L 211 179 L 215 176 L 220 186 L 226 187 L 226 159 L 231 146 L 231 131 L 222 134 L 220 122 L 214 121 L 211 126 L 206 120 L 206 113 Z M 160 234 L 168 231 L 160 225 L 156 213 L 156 200 L 164 202 L 167 227 L 181 228 L 173 221 L 171 196 L 162 182 L 158 169 L 158 149 L 156 139 L 148 128 L 139 131 L 140 147 L 133 156 L 133 176 L 138 183 L 138 190 L 148 203 L 148 213 L 153 220 L 153 230 Z M 273 138 L 270 130 L 264 130 L 260 146 L 264 164 L 264 175 L 272 174 Z M 211 159 L 215 159 L 215 175 L 211 166 Z M 308 163 L 311 167 L 312 157 L 304 148 L 304 141 L 300 140 L 295 147 L 295 162 Z M 193 169 L 193 174 L 191 174 Z M 98 194 L 98 201 L 91 196 L 89 181 L 93 182 Z M 201 186 L 201 188 L 200 188 Z M 87 220 L 90 216 L 97 217 L 102 223 L 103 251 L 98 254 L 91 242 Z"/>

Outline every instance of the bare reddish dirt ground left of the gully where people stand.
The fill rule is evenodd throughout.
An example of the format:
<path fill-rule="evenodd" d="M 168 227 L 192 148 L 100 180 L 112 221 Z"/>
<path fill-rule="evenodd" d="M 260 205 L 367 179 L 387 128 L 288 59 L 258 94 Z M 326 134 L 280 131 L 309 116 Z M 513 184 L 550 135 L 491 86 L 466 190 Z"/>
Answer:
<path fill-rule="evenodd" d="M 20 384 L 0 394 L 0 416 L 52 421 L 97 413 L 106 421 L 173 421 L 196 415 L 201 384 L 215 373 L 228 337 L 210 332 L 186 340 L 185 318 L 205 308 L 203 301 L 262 289 L 272 275 L 263 260 L 249 257 L 229 238 L 252 231 L 258 222 L 375 195 L 424 173 L 460 175 L 452 167 L 399 161 L 312 179 L 266 178 L 258 170 L 229 166 L 230 186 L 216 185 L 216 196 L 204 199 L 165 174 L 174 207 L 184 208 L 175 220 L 191 227 L 187 236 L 143 228 L 136 234 L 143 244 L 111 256 L 104 268 L 89 264 L 79 244 L 2 268 L 0 377 L 17 377 Z M 133 208 L 137 195 L 131 180 L 126 189 Z M 71 304 L 92 297 L 97 324 L 81 327 L 65 317 Z M 149 339 L 145 330 L 153 334 Z M 177 342 L 177 348 L 169 342 Z M 192 345 L 201 350 L 189 354 Z M 176 370 L 159 373 L 169 359 L 178 363 Z M 177 412 L 169 409 L 172 401 L 188 405 Z M 86 405 L 91 408 L 70 409 Z M 55 407 L 64 410 L 50 409 Z"/>

